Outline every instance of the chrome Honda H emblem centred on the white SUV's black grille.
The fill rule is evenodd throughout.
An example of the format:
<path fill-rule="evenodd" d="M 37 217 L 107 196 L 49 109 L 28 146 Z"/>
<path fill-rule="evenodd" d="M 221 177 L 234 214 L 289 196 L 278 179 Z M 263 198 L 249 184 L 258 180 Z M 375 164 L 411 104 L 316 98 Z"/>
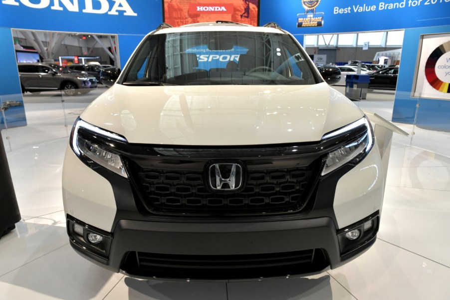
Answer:
<path fill-rule="evenodd" d="M 234 191 L 242 185 L 242 167 L 239 164 L 212 164 L 208 172 L 213 190 Z"/>

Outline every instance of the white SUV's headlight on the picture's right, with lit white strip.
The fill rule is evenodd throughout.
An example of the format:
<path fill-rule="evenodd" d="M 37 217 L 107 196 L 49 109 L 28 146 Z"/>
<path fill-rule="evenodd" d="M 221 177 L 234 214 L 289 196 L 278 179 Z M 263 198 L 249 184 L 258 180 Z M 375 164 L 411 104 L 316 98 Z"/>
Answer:
<path fill-rule="evenodd" d="M 348 163 L 356 165 L 369 153 L 374 144 L 372 126 L 366 117 L 322 137 L 322 139 L 328 139 L 333 136 L 345 134 L 362 125 L 366 126 L 367 130 L 361 137 L 328 153 L 325 167 L 322 170 L 322 176 Z"/>

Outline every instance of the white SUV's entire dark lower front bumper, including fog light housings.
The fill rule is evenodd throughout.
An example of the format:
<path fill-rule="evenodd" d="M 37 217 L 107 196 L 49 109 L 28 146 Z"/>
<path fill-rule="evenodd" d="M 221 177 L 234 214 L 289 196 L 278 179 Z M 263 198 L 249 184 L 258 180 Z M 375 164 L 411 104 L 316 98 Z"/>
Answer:
<path fill-rule="evenodd" d="M 364 223 L 373 220 L 364 231 Z M 73 225 L 81 225 L 83 235 Z M 337 268 L 376 240 L 379 212 L 337 231 L 331 218 L 173 223 L 120 220 L 108 233 L 67 215 L 70 245 L 90 261 L 137 278 L 240 281 L 305 276 Z M 345 232 L 360 229 L 354 241 Z M 89 233 L 103 236 L 90 244 Z"/>

